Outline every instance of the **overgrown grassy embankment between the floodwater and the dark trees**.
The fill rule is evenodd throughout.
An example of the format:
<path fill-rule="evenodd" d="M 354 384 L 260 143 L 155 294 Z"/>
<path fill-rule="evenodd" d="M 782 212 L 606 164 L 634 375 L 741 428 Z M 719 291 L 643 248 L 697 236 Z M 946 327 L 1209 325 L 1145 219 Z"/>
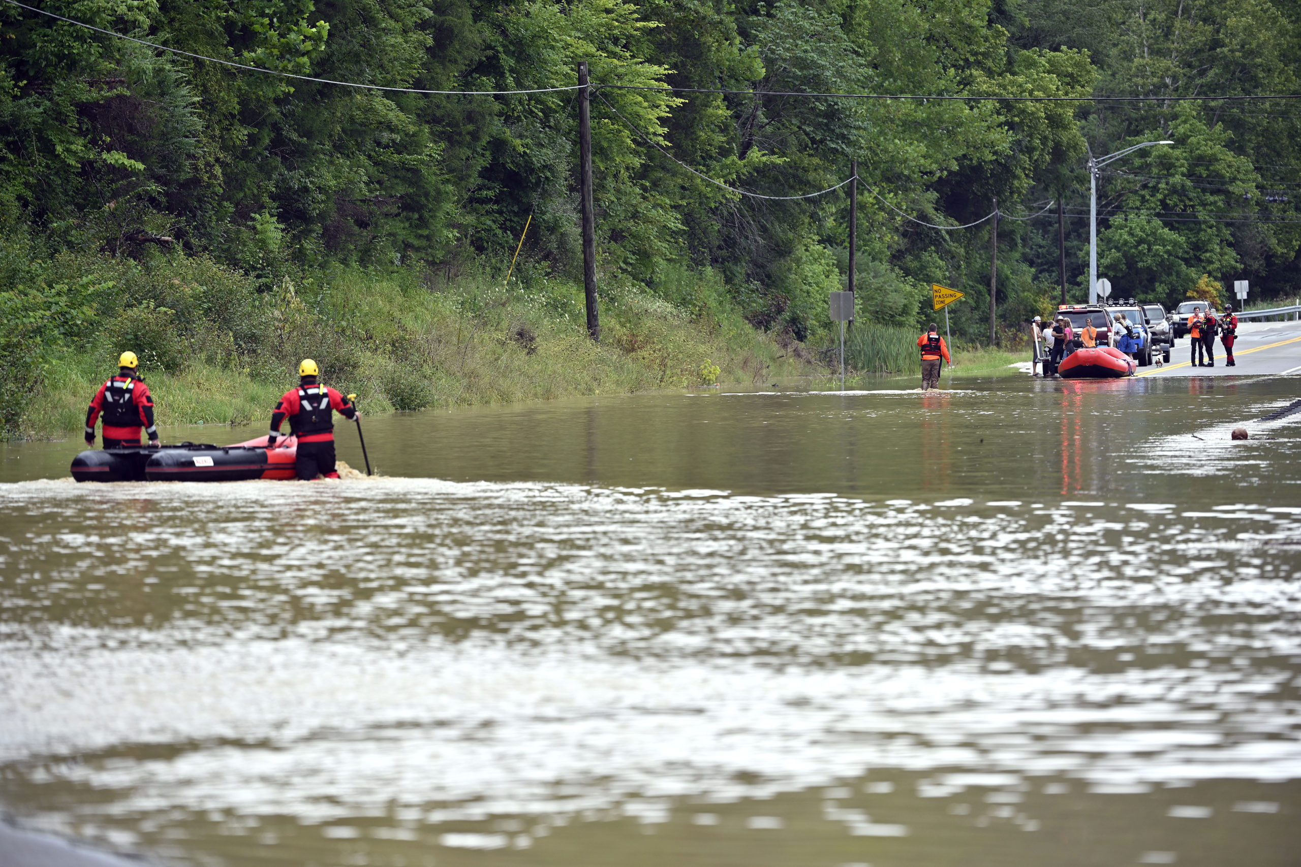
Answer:
<path fill-rule="evenodd" d="M 204 259 L 65 255 L 36 265 L 39 283 L 17 307 L 36 309 L 29 318 L 43 317 L 47 331 L 64 325 L 34 343 L 42 361 L 30 399 L 7 420 L 10 437 L 75 434 L 127 348 L 141 356 L 163 425 L 267 416 L 297 382 L 303 356 L 372 413 L 817 369 L 799 344 L 751 328 L 708 272 L 683 270 L 656 291 L 606 281 L 597 344 L 587 337 L 582 287 L 536 273 L 506 289 L 474 276 L 431 286 L 415 273 L 351 269 L 281 278 L 259 292 L 251 278 Z"/>

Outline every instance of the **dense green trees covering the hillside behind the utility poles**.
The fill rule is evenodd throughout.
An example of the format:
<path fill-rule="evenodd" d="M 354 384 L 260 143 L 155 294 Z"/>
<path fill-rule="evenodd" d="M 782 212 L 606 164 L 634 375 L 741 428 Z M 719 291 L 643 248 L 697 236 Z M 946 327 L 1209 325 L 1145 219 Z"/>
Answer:
<path fill-rule="evenodd" d="M 857 159 L 868 321 L 926 321 L 929 283 L 941 282 L 968 291 L 952 308 L 955 333 L 986 329 L 990 224 L 945 231 L 900 212 L 958 225 L 989 213 L 995 198 L 1008 217 L 1064 201 L 1066 282 L 1080 296 L 1086 151 L 1155 138 L 1176 144 L 1141 151 L 1102 178 L 1101 270 L 1119 294 L 1174 303 L 1202 274 L 1249 278 L 1257 296 L 1301 289 L 1297 109 L 1171 99 L 1301 91 L 1301 6 L 1289 0 L 39 5 L 196 55 L 384 87 L 561 87 L 587 60 L 600 84 L 755 91 L 597 92 L 601 273 L 690 308 L 683 269 L 708 269 L 752 324 L 800 339 L 825 331 L 825 292 L 843 286 L 846 190 L 742 198 L 645 139 L 712 178 L 774 196 L 830 187 Z M 82 300 L 95 292 L 77 281 L 107 278 L 61 276 L 53 291 L 55 277 L 33 263 L 60 255 L 200 256 L 263 291 L 337 266 L 411 268 L 436 287 L 467 269 L 503 270 L 532 214 L 524 279 L 576 272 L 572 91 L 448 96 L 295 81 L 0 5 L 0 291 L 7 326 L 17 324 L 8 341 L 20 331 L 59 339 L 90 315 Z M 999 320 L 1015 326 L 1056 300 L 1055 208 L 1003 220 L 998 240 Z"/>

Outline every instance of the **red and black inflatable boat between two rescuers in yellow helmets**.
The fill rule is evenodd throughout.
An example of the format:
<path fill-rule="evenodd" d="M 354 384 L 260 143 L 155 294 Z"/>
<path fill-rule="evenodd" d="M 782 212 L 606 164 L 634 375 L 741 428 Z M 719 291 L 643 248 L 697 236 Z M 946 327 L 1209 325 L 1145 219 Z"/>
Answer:
<path fill-rule="evenodd" d="M 235 482 L 252 478 L 294 478 L 298 441 L 288 437 L 267 447 L 267 437 L 209 446 L 182 442 L 180 446 L 148 448 L 101 448 L 73 458 L 73 478 L 79 482 Z"/>

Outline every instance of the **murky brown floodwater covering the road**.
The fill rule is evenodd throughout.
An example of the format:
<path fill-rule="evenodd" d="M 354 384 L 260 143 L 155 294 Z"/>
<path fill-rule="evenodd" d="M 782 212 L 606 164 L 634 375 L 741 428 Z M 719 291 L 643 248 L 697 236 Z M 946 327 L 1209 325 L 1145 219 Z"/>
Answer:
<path fill-rule="evenodd" d="M 0 805 L 202 867 L 1296 864 L 1301 380 L 955 382 L 366 419 L 338 484 L 3 447 Z"/>

